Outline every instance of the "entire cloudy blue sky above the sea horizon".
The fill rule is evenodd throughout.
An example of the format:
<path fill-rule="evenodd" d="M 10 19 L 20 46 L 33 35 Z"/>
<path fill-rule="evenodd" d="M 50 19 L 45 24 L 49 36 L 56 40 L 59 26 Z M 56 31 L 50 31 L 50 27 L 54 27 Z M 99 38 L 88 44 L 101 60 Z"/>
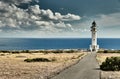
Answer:
<path fill-rule="evenodd" d="M 0 0 L 0 37 L 120 38 L 120 0 Z"/>

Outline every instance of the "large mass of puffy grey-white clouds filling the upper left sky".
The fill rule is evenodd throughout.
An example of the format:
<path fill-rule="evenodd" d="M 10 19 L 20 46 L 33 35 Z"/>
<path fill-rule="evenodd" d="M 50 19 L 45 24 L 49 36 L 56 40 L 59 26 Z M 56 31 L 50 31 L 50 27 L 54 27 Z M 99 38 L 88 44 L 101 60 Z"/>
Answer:
<path fill-rule="evenodd" d="M 0 0 L 0 30 L 40 30 L 40 31 L 70 31 L 72 25 L 65 21 L 80 20 L 74 14 L 62 15 L 50 9 L 40 9 L 39 5 L 29 6 L 27 9 L 18 8 L 16 4 L 28 3 L 31 0 Z M 7 7 L 7 8 L 6 8 Z"/>

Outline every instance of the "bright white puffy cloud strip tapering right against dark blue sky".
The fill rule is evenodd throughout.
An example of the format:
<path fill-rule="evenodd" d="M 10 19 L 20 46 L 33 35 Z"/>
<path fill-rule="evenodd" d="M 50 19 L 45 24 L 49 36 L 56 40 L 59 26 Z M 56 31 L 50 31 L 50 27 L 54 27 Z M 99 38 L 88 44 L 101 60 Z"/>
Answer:
<path fill-rule="evenodd" d="M 55 14 L 50 10 L 41 10 L 42 18 L 45 20 L 53 20 L 53 21 L 73 21 L 73 20 L 80 20 L 80 16 L 70 14 L 67 15 L 61 15 L 58 12 L 55 12 Z"/>

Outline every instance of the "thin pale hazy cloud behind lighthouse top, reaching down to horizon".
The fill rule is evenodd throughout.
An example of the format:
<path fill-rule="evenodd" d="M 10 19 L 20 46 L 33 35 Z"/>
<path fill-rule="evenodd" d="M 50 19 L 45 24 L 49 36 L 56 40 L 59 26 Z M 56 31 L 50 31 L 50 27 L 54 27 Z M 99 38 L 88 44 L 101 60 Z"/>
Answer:
<path fill-rule="evenodd" d="M 120 37 L 120 12 L 111 14 L 99 14 L 92 17 L 82 18 L 85 20 L 73 25 L 75 26 L 73 32 L 81 33 L 81 36 L 84 35 L 90 37 L 90 27 L 92 25 L 92 22 L 95 20 L 97 23 L 98 37 Z"/>

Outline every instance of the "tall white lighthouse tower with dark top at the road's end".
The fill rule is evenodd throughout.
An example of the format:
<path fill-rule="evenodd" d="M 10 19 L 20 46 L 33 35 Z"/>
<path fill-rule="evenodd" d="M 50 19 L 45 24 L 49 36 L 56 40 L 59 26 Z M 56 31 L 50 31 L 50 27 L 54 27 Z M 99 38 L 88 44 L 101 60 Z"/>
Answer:
<path fill-rule="evenodd" d="M 91 39 L 91 45 L 90 45 L 90 51 L 91 52 L 97 52 L 99 49 L 99 45 L 97 45 L 97 28 L 96 28 L 96 22 L 93 21 L 91 26 L 91 32 L 92 32 L 92 39 Z"/>

